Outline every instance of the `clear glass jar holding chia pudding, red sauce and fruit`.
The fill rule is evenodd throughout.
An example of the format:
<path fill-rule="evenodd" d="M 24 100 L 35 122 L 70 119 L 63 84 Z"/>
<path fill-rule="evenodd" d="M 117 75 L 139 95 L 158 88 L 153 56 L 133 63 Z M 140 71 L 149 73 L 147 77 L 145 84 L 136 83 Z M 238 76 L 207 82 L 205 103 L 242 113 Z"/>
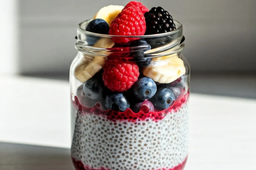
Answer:
<path fill-rule="evenodd" d="M 77 29 L 70 68 L 76 169 L 183 169 L 188 155 L 189 64 L 182 24 L 168 33 L 112 36 Z M 129 43 L 114 42 L 126 38 Z"/>

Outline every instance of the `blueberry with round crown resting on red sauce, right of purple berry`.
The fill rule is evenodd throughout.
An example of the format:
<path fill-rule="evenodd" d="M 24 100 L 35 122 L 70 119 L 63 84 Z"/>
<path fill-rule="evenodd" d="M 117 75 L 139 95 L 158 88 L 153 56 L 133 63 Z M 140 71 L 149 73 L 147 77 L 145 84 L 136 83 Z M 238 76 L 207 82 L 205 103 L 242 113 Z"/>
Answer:
<path fill-rule="evenodd" d="M 175 96 L 172 90 L 162 87 L 157 89 L 156 94 L 150 101 L 152 101 L 156 109 L 164 110 L 167 109 L 174 100 Z"/>

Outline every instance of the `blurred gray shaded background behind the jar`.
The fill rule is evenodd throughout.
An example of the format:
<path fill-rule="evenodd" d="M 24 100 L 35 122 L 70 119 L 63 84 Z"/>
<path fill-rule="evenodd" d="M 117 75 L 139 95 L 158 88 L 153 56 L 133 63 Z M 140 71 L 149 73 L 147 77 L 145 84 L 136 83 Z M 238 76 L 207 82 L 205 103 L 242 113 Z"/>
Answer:
<path fill-rule="evenodd" d="M 20 0 L 19 70 L 68 80 L 76 27 L 101 7 L 129 1 Z M 141 2 L 162 6 L 184 26 L 184 56 L 191 66 L 191 91 L 256 98 L 256 1 L 179 0 Z M 242 91 L 239 89 L 243 89 Z"/>

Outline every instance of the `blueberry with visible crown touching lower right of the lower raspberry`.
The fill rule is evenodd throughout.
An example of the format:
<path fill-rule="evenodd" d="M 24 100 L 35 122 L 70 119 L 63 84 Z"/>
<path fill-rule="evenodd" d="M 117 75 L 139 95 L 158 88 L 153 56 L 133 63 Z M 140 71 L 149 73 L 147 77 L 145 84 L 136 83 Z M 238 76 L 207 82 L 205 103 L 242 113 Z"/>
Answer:
<path fill-rule="evenodd" d="M 146 100 L 155 95 L 156 83 L 149 77 L 142 77 L 134 83 L 132 89 L 137 99 Z"/>

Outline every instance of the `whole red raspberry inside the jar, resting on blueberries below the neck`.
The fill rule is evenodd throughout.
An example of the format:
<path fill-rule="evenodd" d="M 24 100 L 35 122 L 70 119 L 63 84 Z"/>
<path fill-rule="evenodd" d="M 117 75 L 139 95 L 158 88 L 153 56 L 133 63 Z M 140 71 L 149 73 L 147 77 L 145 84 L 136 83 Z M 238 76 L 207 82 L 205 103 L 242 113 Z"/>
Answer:
<path fill-rule="evenodd" d="M 111 91 L 126 91 L 138 80 L 139 68 L 135 62 L 109 60 L 104 68 L 102 80 Z"/>

